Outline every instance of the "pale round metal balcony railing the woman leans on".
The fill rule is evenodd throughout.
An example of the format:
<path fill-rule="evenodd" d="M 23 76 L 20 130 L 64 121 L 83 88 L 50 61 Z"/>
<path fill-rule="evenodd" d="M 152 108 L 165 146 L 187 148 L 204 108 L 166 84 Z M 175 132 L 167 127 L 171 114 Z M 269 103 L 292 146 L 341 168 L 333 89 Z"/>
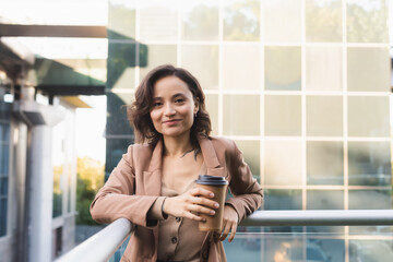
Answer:
<path fill-rule="evenodd" d="M 369 226 L 393 225 L 393 210 L 257 211 L 241 226 Z M 56 262 L 106 262 L 131 233 L 131 223 L 119 218 Z"/>

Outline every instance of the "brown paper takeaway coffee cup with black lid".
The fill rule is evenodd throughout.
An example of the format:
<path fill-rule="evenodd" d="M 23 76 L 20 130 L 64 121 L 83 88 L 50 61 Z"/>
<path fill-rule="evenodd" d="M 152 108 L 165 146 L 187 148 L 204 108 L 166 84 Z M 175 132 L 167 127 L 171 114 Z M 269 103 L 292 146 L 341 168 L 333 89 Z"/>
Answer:
<path fill-rule="evenodd" d="M 201 214 L 201 217 L 206 218 L 205 222 L 199 223 L 199 229 L 201 231 L 221 231 L 223 224 L 224 203 L 228 181 L 223 177 L 215 177 L 209 175 L 200 175 L 195 181 L 198 188 L 210 190 L 214 193 L 213 201 L 219 204 L 219 207 L 215 210 L 215 215 Z"/>

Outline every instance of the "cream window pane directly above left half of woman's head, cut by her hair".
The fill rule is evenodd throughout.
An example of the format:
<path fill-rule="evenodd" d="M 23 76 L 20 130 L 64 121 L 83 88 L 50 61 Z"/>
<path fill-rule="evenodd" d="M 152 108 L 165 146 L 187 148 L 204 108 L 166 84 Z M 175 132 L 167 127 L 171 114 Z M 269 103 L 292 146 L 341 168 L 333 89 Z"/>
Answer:
<path fill-rule="evenodd" d="M 177 47 L 176 45 L 148 45 L 147 46 L 147 67 L 141 67 L 140 81 L 155 67 L 162 64 L 177 63 Z"/>

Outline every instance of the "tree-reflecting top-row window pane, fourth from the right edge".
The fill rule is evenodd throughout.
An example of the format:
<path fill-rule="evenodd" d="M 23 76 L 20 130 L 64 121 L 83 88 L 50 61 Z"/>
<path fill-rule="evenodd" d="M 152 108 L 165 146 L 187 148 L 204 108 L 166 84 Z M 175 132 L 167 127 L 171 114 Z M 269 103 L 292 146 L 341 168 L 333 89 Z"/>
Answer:
<path fill-rule="evenodd" d="M 224 40 L 259 40 L 260 1 L 224 1 Z"/>

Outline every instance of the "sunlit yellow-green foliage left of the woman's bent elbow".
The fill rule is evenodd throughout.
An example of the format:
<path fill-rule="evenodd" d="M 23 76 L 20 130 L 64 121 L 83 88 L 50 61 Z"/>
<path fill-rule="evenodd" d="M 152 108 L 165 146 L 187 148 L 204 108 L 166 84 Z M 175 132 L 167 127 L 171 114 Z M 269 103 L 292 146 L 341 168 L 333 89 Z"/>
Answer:
<path fill-rule="evenodd" d="M 104 164 L 88 157 L 78 158 L 76 225 L 98 225 L 92 219 L 90 205 L 104 184 Z"/>

